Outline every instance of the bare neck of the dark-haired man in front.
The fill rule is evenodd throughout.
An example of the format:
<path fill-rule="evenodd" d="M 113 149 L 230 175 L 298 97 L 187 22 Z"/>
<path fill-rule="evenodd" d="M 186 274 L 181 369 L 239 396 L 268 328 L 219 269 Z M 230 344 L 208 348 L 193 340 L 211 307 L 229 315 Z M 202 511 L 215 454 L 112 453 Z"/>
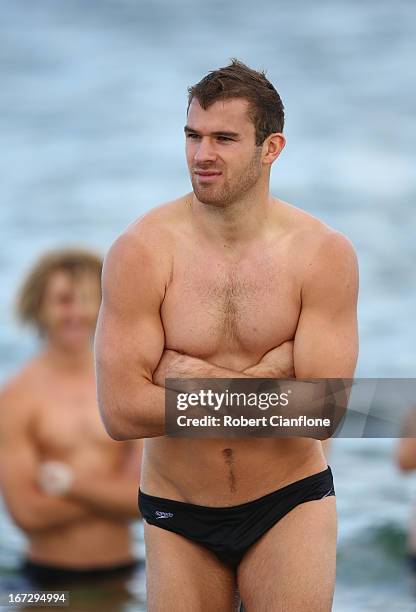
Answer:
<path fill-rule="evenodd" d="M 226 206 L 200 202 L 192 194 L 194 222 L 208 240 L 238 247 L 260 238 L 270 222 L 272 198 L 269 191 L 248 192 Z"/>

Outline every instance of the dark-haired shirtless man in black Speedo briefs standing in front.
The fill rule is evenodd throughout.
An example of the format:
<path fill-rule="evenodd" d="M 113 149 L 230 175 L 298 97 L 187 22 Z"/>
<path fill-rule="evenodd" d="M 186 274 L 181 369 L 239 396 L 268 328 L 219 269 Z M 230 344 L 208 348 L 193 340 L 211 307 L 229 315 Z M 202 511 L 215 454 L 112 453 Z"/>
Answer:
<path fill-rule="evenodd" d="M 353 376 L 356 258 L 270 195 L 282 130 L 264 73 L 233 60 L 207 75 L 189 89 L 193 191 L 133 223 L 104 265 L 99 405 L 115 439 L 147 438 L 151 612 L 232 610 L 236 586 L 249 612 L 331 609 L 336 508 L 321 442 L 164 436 L 165 378 L 287 376 L 292 342 L 297 377 Z"/>

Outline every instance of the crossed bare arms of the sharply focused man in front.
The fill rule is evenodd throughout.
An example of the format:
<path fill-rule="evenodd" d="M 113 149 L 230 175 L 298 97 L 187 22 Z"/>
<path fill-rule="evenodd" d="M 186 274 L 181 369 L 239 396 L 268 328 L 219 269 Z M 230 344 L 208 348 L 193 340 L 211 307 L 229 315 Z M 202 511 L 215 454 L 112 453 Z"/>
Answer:
<path fill-rule="evenodd" d="M 169 263 L 133 234 L 124 234 L 107 255 L 95 354 L 98 399 L 110 436 L 117 440 L 164 435 L 165 377 L 279 377 L 291 368 L 301 378 L 351 378 L 358 335 L 358 270 L 350 243 L 328 232 L 309 262 L 302 310 L 294 338 L 244 372 L 165 351 L 160 309 Z M 288 354 L 293 348 L 293 362 Z M 290 360 L 289 360 L 290 361 Z"/>

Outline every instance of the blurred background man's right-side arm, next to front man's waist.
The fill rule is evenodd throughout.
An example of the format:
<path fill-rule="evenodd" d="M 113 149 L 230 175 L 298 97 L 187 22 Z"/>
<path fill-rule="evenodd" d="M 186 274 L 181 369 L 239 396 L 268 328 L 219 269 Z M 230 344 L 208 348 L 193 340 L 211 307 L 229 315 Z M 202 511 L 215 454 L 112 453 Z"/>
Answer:
<path fill-rule="evenodd" d="M 142 440 L 120 442 L 125 446 L 122 469 L 113 474 L 75 475 L 68 492 L 70 499 L 88 504 L 97 513 L 119 519 L 138 519 L 138 490 L 143 452 Z"/>

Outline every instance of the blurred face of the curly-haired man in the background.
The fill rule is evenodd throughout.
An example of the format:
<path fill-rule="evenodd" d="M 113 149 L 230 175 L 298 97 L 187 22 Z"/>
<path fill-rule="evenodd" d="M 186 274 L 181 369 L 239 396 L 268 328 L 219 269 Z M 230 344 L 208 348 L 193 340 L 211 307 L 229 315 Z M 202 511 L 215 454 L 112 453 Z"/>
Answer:
<path fill-rule="evenodd" d="M 46 337 L 68 351 L 91 342 L 100 306 L 100 286 L 91 273 L 73 278 L 53 272 L 46 284 L 40 318 Z"/>

